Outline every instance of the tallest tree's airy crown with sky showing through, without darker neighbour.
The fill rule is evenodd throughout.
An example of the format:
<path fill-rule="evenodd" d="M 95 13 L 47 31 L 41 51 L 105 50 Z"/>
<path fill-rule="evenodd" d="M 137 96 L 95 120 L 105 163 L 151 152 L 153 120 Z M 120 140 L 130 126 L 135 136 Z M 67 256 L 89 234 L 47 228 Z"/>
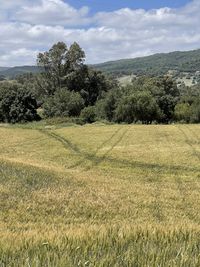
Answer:
<path fill-rule="evenodd" d="M 43 94 L 52 95 L 57 89 L 66 86 L 74 72 L 84 69 L 85 53 L 77 43 L 69 48 L 63 42 L 54 44 L 44 53 L 39 53 L 37 64 L 43 69 L 39 84 Z"/>

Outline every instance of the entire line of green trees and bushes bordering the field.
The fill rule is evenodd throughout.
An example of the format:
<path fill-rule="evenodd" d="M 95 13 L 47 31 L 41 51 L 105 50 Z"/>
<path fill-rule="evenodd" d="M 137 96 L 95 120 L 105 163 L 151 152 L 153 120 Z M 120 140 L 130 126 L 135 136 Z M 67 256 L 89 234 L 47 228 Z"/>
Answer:
<path fill-rule="evenodd" d="M 168 76 L 118 81 L 85 64 L 77 43 L 63 42 L 39 53 L 39 74 L 0 82 L 0 121 L 27 122 L 73 117 L 80 123 L 107 120 L 116 123 L 200 122 L 200 88 L 177 84 Z"/>

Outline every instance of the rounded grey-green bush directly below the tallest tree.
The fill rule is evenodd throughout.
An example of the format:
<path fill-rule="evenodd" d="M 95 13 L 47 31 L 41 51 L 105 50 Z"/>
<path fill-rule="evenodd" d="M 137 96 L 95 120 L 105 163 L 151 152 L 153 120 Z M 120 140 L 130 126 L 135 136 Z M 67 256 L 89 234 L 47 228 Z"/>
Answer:
<path fill-rule="evenodd" d="M 43 105 L 45 117 L 79 116 L 83 107 L 84 100 L 80 94 L 66 88 L 57 90 Z"/>

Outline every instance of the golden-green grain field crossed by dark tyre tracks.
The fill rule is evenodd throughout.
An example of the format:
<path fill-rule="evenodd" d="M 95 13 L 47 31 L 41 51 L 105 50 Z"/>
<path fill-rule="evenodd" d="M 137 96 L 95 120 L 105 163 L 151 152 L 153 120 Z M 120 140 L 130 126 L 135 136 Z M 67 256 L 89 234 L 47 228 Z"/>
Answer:
<path fill-rule="evenodd" d="M 200 266 L 200 125 L 0 127 L 0 266 Z"/>

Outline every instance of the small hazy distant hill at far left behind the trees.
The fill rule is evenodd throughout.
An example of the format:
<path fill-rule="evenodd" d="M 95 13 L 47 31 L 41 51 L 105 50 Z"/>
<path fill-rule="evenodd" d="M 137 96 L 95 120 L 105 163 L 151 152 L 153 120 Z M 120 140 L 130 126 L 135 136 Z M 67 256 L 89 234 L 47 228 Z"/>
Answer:
<path fill-rule="evenodd" d="M 3 75 L 7 78 L 15 78 L 16 76 L 24 73 L 38 73 L 40 72 L 40 68 L 37 66 L 20 66 L 20 67 L 12 67 L 12 68 L 3 68 L 0 67 L 0 75 Z"/>

